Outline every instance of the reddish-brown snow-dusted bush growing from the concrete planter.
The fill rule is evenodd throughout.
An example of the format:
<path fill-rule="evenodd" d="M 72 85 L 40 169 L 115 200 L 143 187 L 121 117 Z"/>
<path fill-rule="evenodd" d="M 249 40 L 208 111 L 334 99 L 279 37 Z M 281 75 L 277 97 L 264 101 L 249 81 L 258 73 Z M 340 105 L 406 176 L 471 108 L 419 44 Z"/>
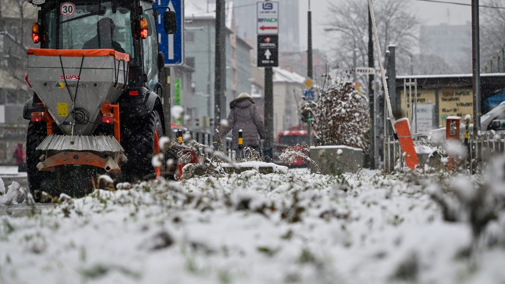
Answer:
<path fill-rule="evenodd" d="M 313 102 L 302 108 L 311 114 L 316 145 L 345 145 L 366 149 L 370 115 L 368 99 L 356 90 L 349 73 L 324 75 Z"/>

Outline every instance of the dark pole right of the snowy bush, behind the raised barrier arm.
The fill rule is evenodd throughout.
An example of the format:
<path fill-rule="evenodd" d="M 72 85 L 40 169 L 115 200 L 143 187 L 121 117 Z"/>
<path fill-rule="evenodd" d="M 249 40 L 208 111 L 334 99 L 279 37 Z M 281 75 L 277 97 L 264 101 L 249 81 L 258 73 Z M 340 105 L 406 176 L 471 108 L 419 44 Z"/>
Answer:
<path fill-rule="evenodd" d="M 368 8 L 368 67 L 375 69 L 374 64 L 374 42 L 373 42 L 373 31 L 372 31 L 372 16 L 370 14 L 370 7 Z M 375 149 L 375 94 L 374 94 L 374 75 L 368 75 L 368 96 L 369 96 L 369 107 L 370 107 L 370 148 L 368 149 L 369 157 L 369 167 L 371 169 L 375 168 L 374 162 L 374 149 Z"/>

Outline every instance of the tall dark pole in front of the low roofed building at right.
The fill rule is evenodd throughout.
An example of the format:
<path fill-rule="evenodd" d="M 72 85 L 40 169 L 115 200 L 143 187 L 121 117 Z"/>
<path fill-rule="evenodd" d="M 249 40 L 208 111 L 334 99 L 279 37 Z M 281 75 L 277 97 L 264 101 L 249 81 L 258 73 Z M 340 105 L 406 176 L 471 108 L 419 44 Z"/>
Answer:
<path fill-rule="evenodd" d="M 479 42 L 479 0 L 472 0 L 472 65 L 473 65 L 473 117 L 474 139 L 480 130 L 480 42 Z"/>

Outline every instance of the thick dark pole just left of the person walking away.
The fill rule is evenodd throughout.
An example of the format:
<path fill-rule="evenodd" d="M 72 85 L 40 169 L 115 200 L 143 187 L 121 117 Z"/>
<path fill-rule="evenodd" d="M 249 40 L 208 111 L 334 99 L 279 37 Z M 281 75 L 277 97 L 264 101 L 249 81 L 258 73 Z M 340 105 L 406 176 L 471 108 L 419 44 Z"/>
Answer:
<path fill-rule="evenodd" d="M 216 0 L 216 63 L 214 76 L 214 128 L 219 129 L 221 119 L 226 116 L 226 37 L 225 0 Z M 214 133 L 214 147 L 221 146 L 220 135 Z"/>

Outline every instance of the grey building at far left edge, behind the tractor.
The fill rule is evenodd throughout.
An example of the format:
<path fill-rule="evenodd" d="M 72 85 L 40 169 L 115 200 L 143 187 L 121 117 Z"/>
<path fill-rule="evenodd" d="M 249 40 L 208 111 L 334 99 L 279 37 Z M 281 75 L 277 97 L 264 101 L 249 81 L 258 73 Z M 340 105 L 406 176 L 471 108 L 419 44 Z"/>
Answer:
<path fill-rule="evenodd" d="M 0 1 L 0 165 L 16 164 L 13 153 L 25 143 L 23 106 L 32 95 L 26 84 L 27 53 L 36 47 L 31 25 L 37 8 L 23 0 Z"/>

